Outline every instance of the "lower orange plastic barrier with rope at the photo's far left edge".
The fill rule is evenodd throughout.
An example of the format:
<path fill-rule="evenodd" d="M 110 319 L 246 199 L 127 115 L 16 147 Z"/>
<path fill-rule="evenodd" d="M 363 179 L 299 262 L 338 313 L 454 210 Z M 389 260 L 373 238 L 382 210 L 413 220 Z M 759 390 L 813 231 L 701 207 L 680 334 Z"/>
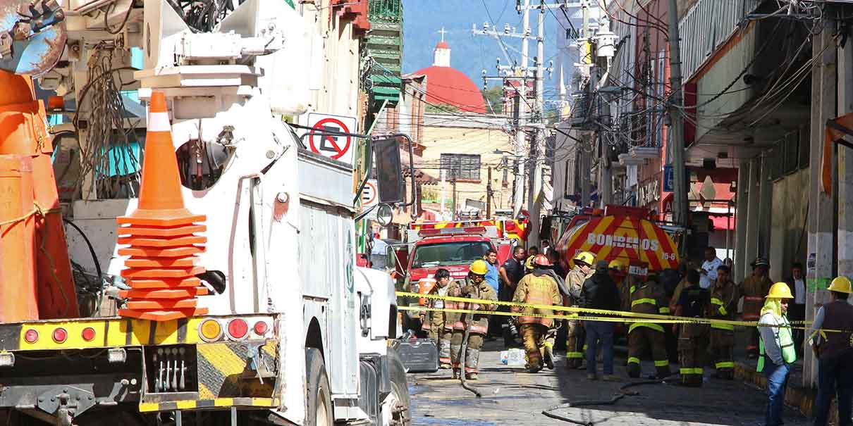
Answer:
<path fill-rule="evenodd" d="M 0 155 L 0 321 L 38 320 L 32 158 Z"/>

